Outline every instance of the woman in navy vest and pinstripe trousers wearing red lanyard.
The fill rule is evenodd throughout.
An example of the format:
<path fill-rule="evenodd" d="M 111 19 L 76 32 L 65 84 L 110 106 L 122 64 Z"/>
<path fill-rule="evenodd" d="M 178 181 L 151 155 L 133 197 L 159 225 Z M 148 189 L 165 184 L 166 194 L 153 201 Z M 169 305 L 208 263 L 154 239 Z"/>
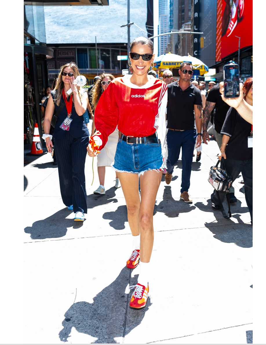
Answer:
<path fill-rule="evenodd" d="M 48 152 L 51 152 L 53 144 L 49 130 L 53 113 L 62 103 L 65 104 L 58 115 L 53 138 L 62 200 L 68 210 L 76 213 L 75 221 L 83 221 L 84 213 L 87 213 L 84 168 L 89 142 L 89 131 L 83 119 L 88 95 L 77 86 L 75 78 L 79 75 L 78 67 L 73 62 L 61 67 L 56 87 L 48 99 L 43 126 L 46 134 L 42 137 L 46 141 Z"/>

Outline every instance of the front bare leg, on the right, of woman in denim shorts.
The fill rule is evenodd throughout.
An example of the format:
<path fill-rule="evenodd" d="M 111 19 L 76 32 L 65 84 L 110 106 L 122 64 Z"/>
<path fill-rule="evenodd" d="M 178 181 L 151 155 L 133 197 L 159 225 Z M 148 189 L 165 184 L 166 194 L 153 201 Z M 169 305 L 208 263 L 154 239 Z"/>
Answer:
<path fill-rule="evenodd" d="M 140 261 L 149 262 L 153 247 L 153 211 L 162 171 L 148 170 L 140 176 L 141 202 L 139 207 Z"/>

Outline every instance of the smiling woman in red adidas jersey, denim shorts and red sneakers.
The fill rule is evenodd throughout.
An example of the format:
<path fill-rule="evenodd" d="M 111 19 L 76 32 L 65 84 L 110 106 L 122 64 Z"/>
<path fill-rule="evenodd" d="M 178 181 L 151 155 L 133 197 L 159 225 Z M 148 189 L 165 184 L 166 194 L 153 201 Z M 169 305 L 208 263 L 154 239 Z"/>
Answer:
<path fill-rule="evenodd" d="M 138 284 L 131 287 L 135 290 L 129 304 L 137 309 L 145 307 L 149 292 L 153 210 L 165 167 L 160 143 L 164 142 L 166 132 L 167 85 L 147 74 L 153 64 L 153 50 L 153 43 L 147 37 L 132 41 L 129 62 L 133 74 L 116 78 L 104 91 L 95 111 L 97 132 L 88 146 L 89 155 L 96 156 L 97 149 L 101 151 L 109 133 L 118 125 L 122 135 L 113 167 L 126 199 L 133 235 L 133 252 L 127 267 L 135 268 L 140 263 Z"/>

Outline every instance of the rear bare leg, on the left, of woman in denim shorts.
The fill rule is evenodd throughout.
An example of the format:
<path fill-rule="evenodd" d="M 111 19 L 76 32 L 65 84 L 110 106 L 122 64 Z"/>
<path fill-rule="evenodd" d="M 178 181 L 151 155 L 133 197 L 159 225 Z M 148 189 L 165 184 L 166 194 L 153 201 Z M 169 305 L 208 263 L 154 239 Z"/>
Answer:
<path fill-rule="evenodd" d="M 139 235 L 139 177 L 130 172 L 118 172 L 118 178 L 126 199 L 127 218 L 133 236 Z"/>

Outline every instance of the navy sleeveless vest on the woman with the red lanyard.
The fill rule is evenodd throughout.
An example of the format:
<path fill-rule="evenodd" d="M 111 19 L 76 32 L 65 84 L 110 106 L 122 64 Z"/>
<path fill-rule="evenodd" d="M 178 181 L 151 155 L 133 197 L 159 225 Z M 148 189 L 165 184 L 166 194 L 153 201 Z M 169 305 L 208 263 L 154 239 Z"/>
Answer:
<path fill-rule="evenodd" d="M 55 93 L 57 91 L 51 91 L 51 96 L 53 99 L 53 103 L 55 105 L 55 112 L 58 110 L 58 108 L 60 107 L 60 105 L 62 104 L 62 102 L 65 102 L 63 99 L 63 96 L 61 97 L 61 101 L 59 106 L 56 105 L 55 103 Z M 70 97 L 68 97 L 68 100 L 70 99 Z M 59 128 L 59 126 L 61 126 L 62 122 L 65 120 L 65 118 L 67 117 L 67 107 L 63 107 L 63 109 L 61 110 L 59 116 L 58 116 L 58 120 L 56 122 L 55 125 L 55 129 L 53 130 L 53 137 L 56 139 L 62 139 L 65 135 L 66 135 L 66 131 Z M 72 135 L 72 137 L 74 138 L 83 138 L 83 137 L 89 137 L 89 131 L 88 128 L 84 122 L 84 118 L 83 115 L 79 116 L 76 112 L 75 106 L 74 106 L 74 102 L 72 102 L 72 109 L 71 109 L 71 117 L 72 119 L 71 124 L 70 124 L 70 128 L 69 128 L 69 133 Z"/>

